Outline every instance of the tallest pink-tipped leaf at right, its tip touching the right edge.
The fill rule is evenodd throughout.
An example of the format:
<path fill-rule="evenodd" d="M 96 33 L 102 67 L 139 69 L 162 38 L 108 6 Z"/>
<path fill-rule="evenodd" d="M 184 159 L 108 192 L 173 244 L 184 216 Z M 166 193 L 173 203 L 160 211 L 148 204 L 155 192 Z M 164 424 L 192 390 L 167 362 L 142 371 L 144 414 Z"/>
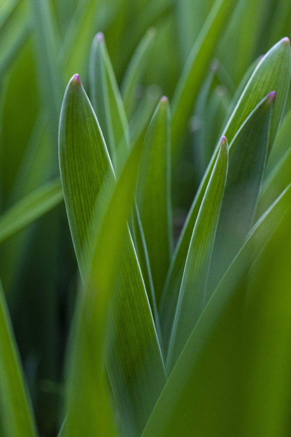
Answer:
<path fill-rule="evenodd" d="M 291 71 L 291 50 L 290 42 L 284 38 L 278 42 L 267 54 L 260 60 L 256 69 L 254 70 L 250 80 L 243 90 L 239 101 L 229 121 L 224 128 L 223 135 L 226 135 L 229 144 L 231 144 L 233 137 L 237 130 L 243 124 L 248 115 L 253 111 L 257 104 L 270 91 L 276 91 L 276 103 L 274 104 L 272 121 L 270 126 L 269 149 L 277 132 L 278 125 L 284 111 L 284 104 L 287 97 L 289 80 Z M 231 150 L 231 147 L 230 147 Z M 216 156 L 218 153 L 218 146 L 213 153 L 212 159 L 201 181 L 199 189 L 192 202 L 191 208 L 188 212 L 185 225 L 182 229 L 178 243 L 175 247 L 174 255 L 171 259 L 171 265 L 165 281 L 163 295 L 161 299 L 160 320 L 161 330 L 163 334 L 164 344 L 168 342 L 170 327 L 172 324 L 172 317 L 174 317 L 173 308 L 171 305 L 170 295 L 178 297 L 178 292 L 181 285 L 182 275 L 185 266 L 185 260 L 188 253 L 193 228 L 205 193 L 206 186 L 212 172 Z M 169 309 L 168 302 L 172 306 Z M 175 301 L 176 302 L 176 301 Z M 174 309 L 175 311 L 175 309 Z"/>

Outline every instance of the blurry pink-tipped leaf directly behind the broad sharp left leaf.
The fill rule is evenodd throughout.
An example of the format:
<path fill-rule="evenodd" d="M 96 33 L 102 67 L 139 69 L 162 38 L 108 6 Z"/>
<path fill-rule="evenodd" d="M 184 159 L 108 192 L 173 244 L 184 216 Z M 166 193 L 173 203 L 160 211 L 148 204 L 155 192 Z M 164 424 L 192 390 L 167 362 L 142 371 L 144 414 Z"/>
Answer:
<path fill-rule="evenodd" d="M 106 49 L 103 33 L 92 43 L 90 55 L 92 106 L 116 169 L 116 149 L 123 140 L 128 145 L 128 125 L 116 78 Z"/>

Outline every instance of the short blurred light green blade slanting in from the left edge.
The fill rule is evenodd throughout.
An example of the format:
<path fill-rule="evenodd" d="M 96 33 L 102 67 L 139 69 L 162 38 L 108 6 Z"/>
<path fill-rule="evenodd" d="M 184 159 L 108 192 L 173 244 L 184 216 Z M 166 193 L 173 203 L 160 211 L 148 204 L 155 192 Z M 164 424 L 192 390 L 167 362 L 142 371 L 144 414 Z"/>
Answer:
<path fill-rule="evenodd" d="M 63 200 L 59 179 L 43 185 L 0 215 L 0 243 L 42 217 Z"/>

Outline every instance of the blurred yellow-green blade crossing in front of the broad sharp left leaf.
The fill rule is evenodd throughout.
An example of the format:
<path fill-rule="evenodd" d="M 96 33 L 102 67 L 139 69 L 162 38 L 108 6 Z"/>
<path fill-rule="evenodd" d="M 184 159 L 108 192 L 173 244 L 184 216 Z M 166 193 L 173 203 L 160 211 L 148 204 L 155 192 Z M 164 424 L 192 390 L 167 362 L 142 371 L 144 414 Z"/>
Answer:
<path fill-rule="evenodd" d="M 114 349 L 114 344 L 110 347 L 105 342 L 106 326 L 123 241 L 127 235 L 126 220 L 137 179 L 141 144 L 137 144 L 132 150 L 113 194 L 109 194 L 109 204 L 104 208 L 106 212 L 102 224 L 98 226 L 100 230 L 89 278 L 84 291 L 79 294 L 68 355 L 65 427 L 70 437 L 77 437 L 84 432 L 86 435 L 116 434 L 108 399 L 104 347 L 109 348 L 110 352 Z M 104 186 L 101 190 L 103 189 Z M 107 191 L 106 185 L 105 189 Z M 117 354 L 116 358 L 118 357 Z M 107 366 L 111 370 L 112 366 L 108 361 L 107 359 Z"/>

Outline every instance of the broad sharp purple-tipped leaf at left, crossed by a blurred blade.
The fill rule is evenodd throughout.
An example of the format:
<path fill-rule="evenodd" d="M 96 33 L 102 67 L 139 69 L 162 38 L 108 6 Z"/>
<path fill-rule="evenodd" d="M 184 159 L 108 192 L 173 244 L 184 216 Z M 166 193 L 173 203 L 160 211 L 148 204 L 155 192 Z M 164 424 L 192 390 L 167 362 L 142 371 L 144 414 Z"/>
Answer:
<path fill-rule="evenodd" d="M 60 169 L 65 204 L 81 276 L 86 283 L 88 267 L 91 265 L 92 241 L 96 238 L 96 225 L 99 228 L 100 217 L 103 217 L 104 202 L 112 192 L 115 178 L 96 116 L 79 82 L 78 75 L 73 76 L 68 84 L 62 106 L 59 132 Z M 137 142 L 130 156 L 135 153 L 134 150 L 139 149 L 142 143 L 141 140 Z M 132 170 L 127 170 L 127 172 L 130 178 Z M 123 173 L 126 174 L 126 170 Z M 124 202 L 123 197 L 120 195 L 120 198 L 116 198 L 116 202 L 121 208 Z M 125 205 L 127 205 L 126 202 Z M 104 277 L 107 278 L 106 281 L 110 281 L 111 285 L 101 284 L 99 278 L 100 290 L 110 290 L 114 284 L 114 274 L 110 270 L 112 262 L 110 257 L 115 259 L 113 254 L 117 243 L 113 230 L 116 229 L 117 232 L 119 229 L 117 226 L 120 218 L 118 208 L 111 209 L 106 217 L 103 223 L 108 223 L 107 239 L 104 236 L 100 247 L 106 246 L 107 250 L 111 248 L 113 253 L 110 252 L 107 259 L 101 249 L 96 249 L 98 263 L 94 261 L 94 265 L 96 262 L 100 272 L 102 271 L 100 269 L 103 269 Z M 99 243 L 101 235 L 100 233 Z M 117 249 L 116 253 L 118 253 Z M 89 302 L 87 302 L 89 307 L 90 305 L 92 307 L 90 310 L 92 319 L 90 323 L 86 320 L 82 323 L 86 326 L 88 323 L 95 335 L 98 333 L 102 337 L 103 331 L 99 332 L 99 323 L 103 326 L 102 320 L 106 315 L 100 307 L 102 317 L 94 316 L 99 308 L 99 298 L 96 302 L 94 296 L 96 297 L 96 289 L 93 287 L 90 288 Z M 99 296 L 98 293 L 97 296 Z M 101 293 L 100 299 L 102 296 Z M 143 429 L 166 377 L 150 305 L 128 229 L 113 296 L 113 321 L 109 329 L 106 366 L 123 430 L 126 435 L 135 436 Z M 93 339 L 94 335 L 92 341 Z M 89 353 L 90 347 L 86 354 Z M 80 354 L 81 352 L 77 353 L 78 356 Z M 94 384 L 93 387 L 95 387 Z M 93 389 L 96 390 L 96 388 Z M 147 396 L 140 396 L 140 393 L 144 392 Z M 78 389 L 74 393 L 78 397 Z M 93 395 L 93 399 L 95 396 Z M 73 402 L 71 405 L 73 406 Z M 92 405 L 88 408 L 92 408 Z M 84 409 L 86 409 L 85 405 L 82 406 L 82 411 Z M 73 418 L 72 411 L 72 420 Z"/>

